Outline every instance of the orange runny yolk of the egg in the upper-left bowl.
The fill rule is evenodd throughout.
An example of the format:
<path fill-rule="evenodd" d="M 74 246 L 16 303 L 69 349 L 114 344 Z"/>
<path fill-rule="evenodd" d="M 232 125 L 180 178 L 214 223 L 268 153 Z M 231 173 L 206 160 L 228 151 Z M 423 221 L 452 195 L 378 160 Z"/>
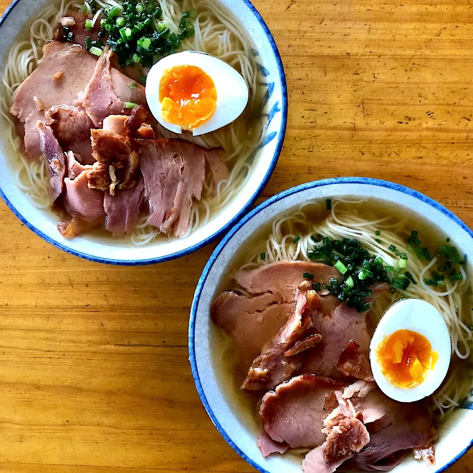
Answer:
<path fill-rule="evenodd" d="M 174 66 L 165 70 L 159 85 L 164 120 L 194 130 L 215 113 L 217 91 L 212 78 L 197 66 Z"/>

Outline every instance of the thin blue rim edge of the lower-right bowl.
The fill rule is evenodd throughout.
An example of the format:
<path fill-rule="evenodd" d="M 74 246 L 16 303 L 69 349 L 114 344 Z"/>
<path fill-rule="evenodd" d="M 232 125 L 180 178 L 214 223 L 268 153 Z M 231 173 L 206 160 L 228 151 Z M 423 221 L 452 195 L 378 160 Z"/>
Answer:
<path fill-rule="evenodd" d="M 448 218 L 450 218 L 452 221 L 457 223 L 463 230 L 465 230 L 472 238 L 473 238 L 473 231 L 462 221 L 460 220 L 453 212 L 448 210 L 446 207 L 441 205 L 440 203 L 434 201 L 430 197 L 427 197 L 424 194 L 421 194 L 420 192 L 414 191 L 413 189 L 410 189 L 409 187 L 402 186 L 401 184 L 396 184 L 394 182 L 389 182 L 389 181 L 383 181 L 380 179 L 374 179 L 370 177 L 336 177 L 336 178 L 330 178 L 330 179 L 322 179 L 319 181 L 313 181 L 313 182 L 307 182 L 306 184 L 302 184 L 297 187 L 293 187 L 291 189 L 288 189 L 286 191 L 280 192 L 279 194 L 276 194 L 275 196 L 271 197 L 267 201 L 261 203 L 257 207 L 255 207 L 253 210 L 251 210 L 240 222 L 236 224 L 236 226 L 222 239 L 222 241 L 219 243 L 217 248 L 215 248 L 214 252 L 210 256 L 210 259 L 208 260 L 207 264 L 205 265 L 205 268 L 203 270 L 202 276 L 199 279 L 199 282 L 197 284 L 196 292 L 194 295 L 194 300 L 192 301 L 192 306 L 191 306 L 191 316 L 190 316 L 190 321 L 189 321 L 189 361 L 191 364 L 191 370 L 192 370 L 192 376 L 194 377 L 194 382 L 196 384 L 197 392 L 199 393 L 199 397 L 201 398 L 201 402 L 207 411 L 208 416 L 210 417 L 210 420 L 212 423 L 215 425 L 217 430 L 220 432 L 220 435 L 226 440 L 226 442 L 236 451 L 236 453 L 243 458 L 247 463 L 249 463 L 253 468 L 258 470 L 261 473 L 269 473 L 268 470 L 265 470 L 261 465 L 258 465 L 255 463 L 253 460 L 248 458 L 233 442 L 233 440 L 229 437 L 229 435 L 226 433 L 226 431 L 223 429 L 223 427 L 220 425 L 217 417 L 213 413 L 212 409 L 210 408 L 210 405 L 207 401 L 207 398 L 205 397 L 205 393 L 203 392 L 203 387 L 202 383 L 200 380 L 199 376 L 199 370 L 197 369 L 197 361 L 196 361 L 196 352 L 195 352 L 195 322 L 196 322 L 196 315 L 197 315 L 197 306 L 199 305 L 199 300 L 202 294 L 203 287 L 205 285 L 205 282 L 207 280 L 207 276 L 212 269 L 212 266 L 214 265 L 215 261 L 217 260 L 218 256 L 222 252 L 222 250 L 225 248 L 227 243 L 235 236 L 236 232 L 243 227 L 249 220 L 251 220 L 254 216 L 258 215 L 262 210 L 268 208 L 270 205 L 272 205 L 275 202 L 280 201 L 281 199 L 284 199 L 288 196 L 291 196 L 293 194 L 297 194 L 299 192 L 305 191 L 307 189 L 314 189 L 316 187 L 322 187 L 322 186 L 330 186 L 330 185 L 335 185 L 335 184 L 369 184 L 373 186 L 378 186 L 378 187 L 385 187 L 388 189 L 392 189 L 395 191 L 402 192 L 403 194 L 406 194 L 408 196 L 414 197 L 415 199 L 418 199 L 424 203 L 429 204 L 430 206 L 434 207 L 435 209 L 439 210 L 441 213 L 446 215 Z M 347 192 L 349 194 L 349 192 Z M 470 441 L 470 444 L 462 450 L 455 458 L 450 460 L 446 465 L 441 467 L 439 470 L 436 470 L 435 472 L 432 473 L 441 473 L 447 468 L 451 467 L 457 460 L 459 460 L 465 453 L 473 446 L 473 439 Z"/>

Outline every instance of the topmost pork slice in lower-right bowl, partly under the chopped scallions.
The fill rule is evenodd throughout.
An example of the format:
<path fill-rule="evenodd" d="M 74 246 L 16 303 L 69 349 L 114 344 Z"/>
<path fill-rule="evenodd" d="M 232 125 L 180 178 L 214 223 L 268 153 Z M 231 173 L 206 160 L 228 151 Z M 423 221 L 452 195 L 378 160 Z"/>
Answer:
<path fill-rule="evenodd" d="M 332 266 L 306 261 L 277 261 L 255 270 L 239 271 L 236 282 L 250 294 L 270 292 L 281 302 L 294 302 L 296 287 L 304 281 L 304 272 L 314 275 L 314 281 L 328 283 L 331 278 L 340 278 L 340 273 Z M 337 305 L 331 297 L 329 312 Z"/>

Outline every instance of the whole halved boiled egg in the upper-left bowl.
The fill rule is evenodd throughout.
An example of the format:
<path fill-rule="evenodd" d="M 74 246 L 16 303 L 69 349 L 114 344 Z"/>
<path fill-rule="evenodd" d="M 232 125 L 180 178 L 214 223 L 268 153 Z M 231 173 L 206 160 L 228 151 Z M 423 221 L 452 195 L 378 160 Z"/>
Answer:
<path fill-rule="evenodd" d="M 158 61 L 146 79 L 146 100 L 158 122 L 171 132 L 194 136 L 232 123 L 248 103 L 243 77 L 224 61 L 197 51 Z"/>

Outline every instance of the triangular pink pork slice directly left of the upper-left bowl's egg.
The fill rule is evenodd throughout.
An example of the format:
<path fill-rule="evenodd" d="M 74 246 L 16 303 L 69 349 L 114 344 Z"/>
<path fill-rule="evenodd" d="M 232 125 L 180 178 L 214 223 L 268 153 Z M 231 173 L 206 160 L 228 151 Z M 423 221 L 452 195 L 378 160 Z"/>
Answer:
<path fill-rule="evenodd" d="M 146 103 L 144 87 L 128 87 L 132 81 L 111 67 L 112 55 L 111 50 L 103 52 L 83 96 L 82 106 L 97 128 L 102 127 L 108 115 L 129 115 L 132 110 L 125 107 L 125 102 Z"/>

